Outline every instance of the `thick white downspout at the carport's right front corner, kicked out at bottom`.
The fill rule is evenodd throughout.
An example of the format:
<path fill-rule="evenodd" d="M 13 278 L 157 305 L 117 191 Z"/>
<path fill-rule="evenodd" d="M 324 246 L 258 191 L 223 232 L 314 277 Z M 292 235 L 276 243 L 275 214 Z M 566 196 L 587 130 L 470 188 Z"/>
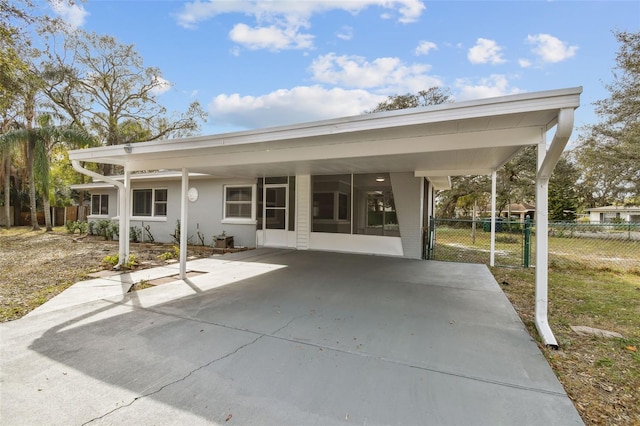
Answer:
<path fill-rule="evenodd" d="M 561 109 L 556 133 L 547 150 L 546 142 L 538 145 L 536 175 L 536 329 L 543 343 L 558 349 L 548 319 L 549 289 L 549 179 L 573 131 L 573 108 Z"/>

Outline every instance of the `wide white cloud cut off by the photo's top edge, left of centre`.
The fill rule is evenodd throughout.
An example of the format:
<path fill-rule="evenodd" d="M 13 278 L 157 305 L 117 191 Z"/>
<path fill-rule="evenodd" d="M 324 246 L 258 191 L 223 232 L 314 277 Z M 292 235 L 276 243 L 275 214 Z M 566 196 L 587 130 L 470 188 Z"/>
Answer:
<path fill-rule="evenodd" d="M 301 33 L 310 27 L 311 16 L 330 10 L 343 10 L 357 14 L 377 6 L 397 14 L 401 23 L 416 21 L 425 9 L 421 0 L 196 0 L 186 3 L 177 15 L 177 22 L 185 28 L 195 28 L 199 22 L 223 14 L 242 14 L 255 19 L 256 25 L 237 23 L 229 36 L 249 49 L 308 49 L 313 47 L 313 36 Z M 349 32 L 338 36 L 350 37 Z"/>

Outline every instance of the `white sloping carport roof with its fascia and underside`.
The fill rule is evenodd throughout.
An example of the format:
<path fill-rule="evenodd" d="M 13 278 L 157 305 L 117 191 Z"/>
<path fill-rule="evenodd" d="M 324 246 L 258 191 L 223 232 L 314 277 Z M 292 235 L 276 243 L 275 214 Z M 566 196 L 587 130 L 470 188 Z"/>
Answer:
<path fill-rule="evenodd" d="M 521 148 L 544 142 L 581 87 L 364 114 L 258 130 L 70 151 L 71 160 L 131 172 L 219 177 L 407 172 L 436 188 L 449 176 L 490 174 Z"/>

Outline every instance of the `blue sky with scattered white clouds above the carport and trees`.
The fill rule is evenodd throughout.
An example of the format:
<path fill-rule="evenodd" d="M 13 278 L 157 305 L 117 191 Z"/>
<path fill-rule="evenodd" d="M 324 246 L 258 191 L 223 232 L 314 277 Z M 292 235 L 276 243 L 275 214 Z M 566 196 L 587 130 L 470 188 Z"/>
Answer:
<path fill-rule="evenodd" d="M 202 134 L 359 115 L 432 86 L 455 101 L 582 86 L 576 127 L 640 1 L 86 0 L 42 3 L 70 26 L 133 44 L 167 81 L 170 111 L 197 100 Z M 575 135 L 579 132 L 574 132 Z"/>

